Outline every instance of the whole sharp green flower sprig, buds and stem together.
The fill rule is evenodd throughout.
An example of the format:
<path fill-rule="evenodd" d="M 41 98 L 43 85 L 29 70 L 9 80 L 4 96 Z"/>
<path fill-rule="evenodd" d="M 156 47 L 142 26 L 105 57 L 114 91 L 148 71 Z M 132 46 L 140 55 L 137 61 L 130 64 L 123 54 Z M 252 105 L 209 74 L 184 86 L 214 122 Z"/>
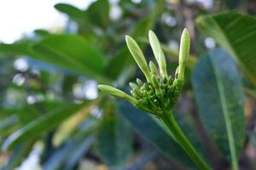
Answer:
<path fill-rule="evenodd" d="M 182 146 L 183 150 L 187 152 L 191 159 L 195 161 L 196 165 L 201 169 L 210 169 L 192 144 L 190 144 L 189 139 L 186 138 L 182 129 L 178 126 L 172 112 L 172 108 L 177 101 L 177 97 L 183 88 L 184 70 L 189 57 L 189 31 L 184 29 L 181 36 L 179 65 L 174 78 L 167 74 L 166 58 L 160 48 L 158 38 L 155 36 L 153 31 L 149 31 L 148 37 L 154 57 L 159 66 L 159 71 L 152 61 L 149 62 L 148 68 L 147 61 L 142 50 L 137 45 L 137 42 L 135 42 L 131 37 L 126 36 L 125 39 L 127 46 L 133 58 L 136 60 L 137 65 L 143 71 L 147 82 L 142 82 L 138 78 L 137 83 L 130 82 L 131 95 L 108 85 L 101 84 L 98 87 L 106 94 L 126 99 L 138 109 L 157 116 L 166 124 L 166 127 L 168 127 L 172 133 L 172 137 Z"/>

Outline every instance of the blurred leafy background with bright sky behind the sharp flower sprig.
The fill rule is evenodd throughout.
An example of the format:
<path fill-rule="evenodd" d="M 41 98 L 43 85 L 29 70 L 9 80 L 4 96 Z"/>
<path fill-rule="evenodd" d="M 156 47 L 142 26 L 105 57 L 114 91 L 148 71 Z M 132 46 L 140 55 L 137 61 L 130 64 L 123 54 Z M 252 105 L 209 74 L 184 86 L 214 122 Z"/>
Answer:
<path fill-rule="evenodd" d="M 128 82 L 144 80 L 125 35 L 154 61 L 150 29 L 173 76 L 184 27 L 191 49 L 179 124 L 213 169 L 230 169 L 217 69 L 240 167 L 256 169 L 255 14 L 253 0 L 1 1 L 0 169 L 196 169 L 155 117 L 97 89 L 129 93 Z"/>

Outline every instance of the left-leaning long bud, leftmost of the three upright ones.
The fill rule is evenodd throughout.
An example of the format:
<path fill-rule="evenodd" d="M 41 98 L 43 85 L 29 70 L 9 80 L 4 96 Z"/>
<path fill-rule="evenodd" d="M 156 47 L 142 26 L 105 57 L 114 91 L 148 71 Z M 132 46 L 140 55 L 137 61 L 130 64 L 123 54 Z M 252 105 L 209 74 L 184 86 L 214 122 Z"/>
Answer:
<path fill-rule="evenodd" d="M 137 65 L 143 71 L 143 74 L 145 75 L 147 81 L 150 82 L 150 73 L 148 70 L 148 64 L 143 55 L 141 48 L 139 48 L 139 46 L 137 45 L 137 42 L 134 39 L 132 39 L 132 37 L 125 36 L 125 40 L 131 52 L 132 57 L 135 59 L 135 61 L 137 62 Z"/>

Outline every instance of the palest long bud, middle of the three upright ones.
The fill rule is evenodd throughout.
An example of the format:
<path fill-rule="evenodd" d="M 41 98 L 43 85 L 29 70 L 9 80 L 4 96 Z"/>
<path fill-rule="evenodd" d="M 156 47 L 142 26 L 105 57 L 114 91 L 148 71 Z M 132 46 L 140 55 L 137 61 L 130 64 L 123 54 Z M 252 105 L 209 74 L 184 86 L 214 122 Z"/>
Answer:
<path fill-rule="evenodd" d="M 154 57 L 155 57 L 158 65 L 159 65 L 159 68 L 160 68 L 160 75 L 162 77 L 167 77 L 166 57 L 160 47 L 160 42 L 159 42 L 158 38 L 156 37 L 156 35 L 154 34 L 154 31 L 150 30 L 148 32 L 148 38 L 149 38 L 150 46 L 154 53 Z"/>

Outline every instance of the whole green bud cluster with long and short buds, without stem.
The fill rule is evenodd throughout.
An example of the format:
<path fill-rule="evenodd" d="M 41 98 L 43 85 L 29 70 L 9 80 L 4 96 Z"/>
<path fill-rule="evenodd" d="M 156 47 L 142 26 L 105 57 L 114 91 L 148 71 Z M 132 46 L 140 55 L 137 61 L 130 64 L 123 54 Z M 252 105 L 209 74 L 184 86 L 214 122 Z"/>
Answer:
<path fill-rule="evenodd" d="M 179 65 L 174 79 L 167 74 L 166 57 L 153 31 L 148 32 L 148 39 L 159 70 L 152 61 L 148 65 L 142 50 L 132 37 L 126 36 L 125 39 L 132 57 L 141 71 L 143 71 L 147 82 L 143 82 L 138 78 L 136 83 L 130 82 L 131 95 L 107 85 L 99 85 L 99 88 L 105 93 L 126 99 L 137 108 L 156 116 L 161 116 L 164 111 L 172 110 L 183 87 L 184 69 L 189 57 L 189 31 L 184 29 L 181 37 Z"/>

